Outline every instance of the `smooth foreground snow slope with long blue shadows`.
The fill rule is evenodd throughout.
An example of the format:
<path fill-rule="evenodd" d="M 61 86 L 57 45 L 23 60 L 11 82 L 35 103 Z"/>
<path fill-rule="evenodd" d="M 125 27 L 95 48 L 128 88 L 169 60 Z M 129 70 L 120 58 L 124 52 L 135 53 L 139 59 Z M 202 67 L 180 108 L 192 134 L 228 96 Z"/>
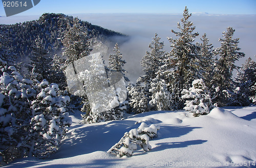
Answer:
<path fill-rule="evenodd" d="M 77 116 L 77 117 L 76 117 Z M 81 125 L 73 117 L 69 137 L 50 159 L 25 158 L 6 167 L 253 167 L 256 164 L 256 106 L 215 108 L 208 115 L 152 111 L 122 121 Z M 106 153 L 140 122 L 160 126 L 152 150 L 130 158 Z"/>

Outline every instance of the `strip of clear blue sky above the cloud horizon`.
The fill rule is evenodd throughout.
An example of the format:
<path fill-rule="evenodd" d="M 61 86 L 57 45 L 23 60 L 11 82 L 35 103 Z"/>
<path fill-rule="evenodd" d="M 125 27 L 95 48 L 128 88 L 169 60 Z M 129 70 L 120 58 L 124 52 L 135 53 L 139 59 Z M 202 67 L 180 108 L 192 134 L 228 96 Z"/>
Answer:
<path fill-rule="evenodd" d="M 17 15 L 42 13 L 182 13 L 256 14 L 256 0 L 41 0 L 40 3 Z M 0 16 L 6 16 L 0 5 Z"/>

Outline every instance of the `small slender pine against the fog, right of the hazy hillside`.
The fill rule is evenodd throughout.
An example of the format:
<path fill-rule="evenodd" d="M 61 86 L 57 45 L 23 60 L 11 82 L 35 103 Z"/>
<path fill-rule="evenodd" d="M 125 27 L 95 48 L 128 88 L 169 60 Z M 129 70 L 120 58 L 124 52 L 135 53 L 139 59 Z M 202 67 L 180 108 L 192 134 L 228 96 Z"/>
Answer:
<path fill-rule="evenodd" d="M 118 46 L 118 43 L 115 44 L 113 51 L 115 52 L 115 54 L 110 54 L 110 58 L 109 58 L 110 71 L 117 71 L 121 73 L 124 77 L 124 80 L 126 82 L 129 82 L 130 80 L 127 77 L 125 77 L 125 74 L 124 74 L 124 73 L 127 73 L 127 71 L 123 69 L 123 66 L 126 62 L 125 60 L 122 60 L 123 54 L 120 52 L 120 47 Z"/>

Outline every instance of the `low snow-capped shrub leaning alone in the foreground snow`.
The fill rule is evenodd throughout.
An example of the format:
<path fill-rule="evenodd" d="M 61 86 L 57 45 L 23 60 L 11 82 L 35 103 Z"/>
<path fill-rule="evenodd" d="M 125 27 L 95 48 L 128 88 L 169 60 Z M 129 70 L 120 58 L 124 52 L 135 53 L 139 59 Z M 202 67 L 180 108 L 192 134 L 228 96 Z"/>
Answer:
<path fill-rule="evenodd" d="M 137 146 L 140 146 L 144 151 L 151 150 L 152 147 L 148 141 L 157 135 L 159 129 L 160 127 L 154 124 L 148 127 L 145 123 L 141 123 L 138 129 L 125 132 L 119 142 L 108 153 L 118 157 L 131 157 L 133 152 L 137 150 Z"/>

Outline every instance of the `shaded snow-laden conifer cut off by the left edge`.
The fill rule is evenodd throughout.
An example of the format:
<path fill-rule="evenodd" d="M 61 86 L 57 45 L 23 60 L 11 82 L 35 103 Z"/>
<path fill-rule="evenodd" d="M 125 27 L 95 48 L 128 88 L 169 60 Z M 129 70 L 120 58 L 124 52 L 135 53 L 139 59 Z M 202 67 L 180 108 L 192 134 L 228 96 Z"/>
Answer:
<path fill-rule="evenodd" d="M 0 166 L 26 156 L 31 119 L 32 81 L 0 58 Z"/>

